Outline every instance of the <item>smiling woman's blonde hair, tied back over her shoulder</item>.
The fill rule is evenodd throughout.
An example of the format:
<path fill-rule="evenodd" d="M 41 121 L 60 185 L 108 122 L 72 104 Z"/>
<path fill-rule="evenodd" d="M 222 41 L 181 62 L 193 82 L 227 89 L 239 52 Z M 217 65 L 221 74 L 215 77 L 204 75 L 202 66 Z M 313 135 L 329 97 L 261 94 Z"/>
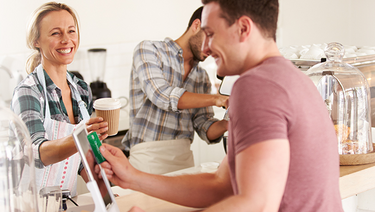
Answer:
<path fill-rule="evenodd" d="M 76 25 L 76 31 L 78 35 L 78 44 L 80 41 L 79 38 L 79 26 L 78 26 L 78 18 L 76 12 L 73 8 L 69 7 L 66 4 L 56 3 L 56 2 L 48 2 L 40 6 L 37 10 L 35 10 L 27 28 L 27 35 L 26 35 L 26 43 L 27 46 L 33 50 L 32 54 L 29 56 L 26 62 L 26 72 L 30 74 L 34 71 L 34 69 L 41 63 L 41 55 L 39 48 L 35 47 L 36 41 L 40 37 L 40 22 L 42 19 L 52 11 L 61 11 L 66 10 L 68 11 Z"/>

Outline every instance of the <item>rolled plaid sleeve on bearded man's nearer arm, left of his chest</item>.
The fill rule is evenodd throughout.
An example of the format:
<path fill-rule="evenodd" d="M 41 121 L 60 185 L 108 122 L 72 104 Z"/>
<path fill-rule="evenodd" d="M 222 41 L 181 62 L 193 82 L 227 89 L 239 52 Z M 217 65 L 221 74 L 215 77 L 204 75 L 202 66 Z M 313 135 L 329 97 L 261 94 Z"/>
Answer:
<path fill-rule="evenodd" d="M 134 51 L 134 67 L 139 77 L 140 86 L 150 101 L 163 110 L 178 111 L 177 104 L 184 88 L 172 87 L 166 80 L 173 74 L 163 72 L 161 53 L 148 41 L 141 42 Z"/>

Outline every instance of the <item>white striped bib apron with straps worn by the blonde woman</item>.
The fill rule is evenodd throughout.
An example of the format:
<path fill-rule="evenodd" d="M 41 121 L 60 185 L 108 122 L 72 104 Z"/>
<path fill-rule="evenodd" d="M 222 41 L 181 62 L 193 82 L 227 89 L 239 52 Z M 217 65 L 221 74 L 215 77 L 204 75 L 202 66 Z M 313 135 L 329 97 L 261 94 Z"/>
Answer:
<path fill-rule="evenodd" d="M 68 135 L 71 135 L 74 131 L 76 125 L 56 121 L 51 119 L 51 113 L 49 109 L 48 99 L 47 99 L 47 88 L 46 80 L 44 78 L 43 66 L 40 64 L 37 67 L 38 79 L 44 89 L 44 99 L 45 99 L 45 119 L 44 128 L 46 129 L 45 138 L 48 140 L 56 140 Z M 80 94 L 77 90 L 77 85 L 73 82 L 72 77 L 66 73 L 67 80 L 70 82 L 73 88 L 71 88 L 73 95 L 76 97 L 79 103 L 79 109 L 83 116 L 83 120 L 87 121 L 90 119 L 89 113 L 86 109 L 86 104 L 82 101 Z M 36 169 L 36 185 L 38 191 L 46 186 L 60 186 L 61 189 L 68 189 L 72 196 L 77 193 L 77 173 L 79 164 L 81 163 L 81 158 L 78 153 L 71 155 L 63 161 L 48 165 L 43 169 Z"/>

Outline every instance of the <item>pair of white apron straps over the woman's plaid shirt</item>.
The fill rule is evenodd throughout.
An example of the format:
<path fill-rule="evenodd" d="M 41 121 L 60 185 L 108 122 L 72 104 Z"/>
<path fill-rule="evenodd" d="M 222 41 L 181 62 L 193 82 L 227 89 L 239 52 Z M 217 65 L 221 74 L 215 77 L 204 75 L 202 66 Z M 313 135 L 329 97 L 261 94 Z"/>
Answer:
<path fill-rule="evenodd" d="M 42 64 L 39 64 L 39 66 L 37 67 L 37 76 L 38 76 L 38 79 L 39 79 L 39 82 L 42 84 L 42 87 L 44 89 L 44 98 L 45 98 L 45 102 L 46 102 L 46 112 L 45 112 L 45 118 L 51 118 L 51 113 L 50 113 L 50 110 L 49 110 L 49 104 L 48 104 L 48 99 L 47 99 L 47 88 L 46 88 L 46 80 L 45 80 L 45 77 L 44 77 L 44 71 L 43 71 L 43 66 Z M 77 89 L 77 85 L 73 82 L 73 79 L 72 77 L 69 75 L 68 72 L 66 72 L 66 78 L 68 80 L 68 82 L 72 85 L 73 89 L 72 92 L 73 92 L 73 95 L 76 97 L 77 99 L 77 102 L 78 102 L 78 106 L 79 106 L 79 110 L 82 114 L 82 118 L 84 121 L 87 121 L 90 119 L 90 115 L 89 115 L 89 112 L 87 111 L 87 105 L 86 103 L 81 99 L 81 95 L 79 94 L 78 92 L 78 89 Z"/>

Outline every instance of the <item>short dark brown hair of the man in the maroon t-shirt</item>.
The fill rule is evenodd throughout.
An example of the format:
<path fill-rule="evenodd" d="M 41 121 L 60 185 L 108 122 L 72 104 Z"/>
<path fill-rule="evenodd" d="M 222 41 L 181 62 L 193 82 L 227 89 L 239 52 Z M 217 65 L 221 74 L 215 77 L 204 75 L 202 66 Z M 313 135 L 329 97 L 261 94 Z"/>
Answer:
<path fill-rule="evenodd" d="M 261 29 L 263 36 L 276 41 L 278 0 L 202 0 L 203 4 L 217 2 L 222 17 L 231 26 L 241 16 L 248 16 Z"/>

